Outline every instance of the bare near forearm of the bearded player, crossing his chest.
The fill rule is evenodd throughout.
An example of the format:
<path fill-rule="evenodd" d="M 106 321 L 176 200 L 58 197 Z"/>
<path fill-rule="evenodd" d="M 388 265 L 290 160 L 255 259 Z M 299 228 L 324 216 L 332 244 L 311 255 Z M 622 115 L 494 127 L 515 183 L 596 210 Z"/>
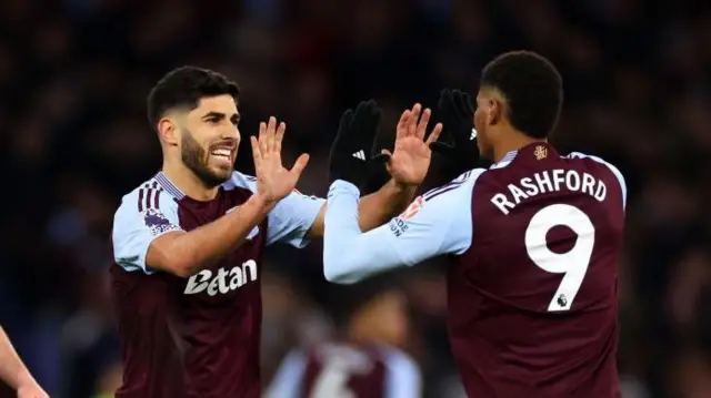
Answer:
<path fill-rule="evenodd" d="M 236 211 L 179 235 L 164 249 L 174 264 L 172 272 L 179 276 L 190 276 L 223 258 L 244 242 L 271 208 L 273 204 L 252 195 Z"/>

